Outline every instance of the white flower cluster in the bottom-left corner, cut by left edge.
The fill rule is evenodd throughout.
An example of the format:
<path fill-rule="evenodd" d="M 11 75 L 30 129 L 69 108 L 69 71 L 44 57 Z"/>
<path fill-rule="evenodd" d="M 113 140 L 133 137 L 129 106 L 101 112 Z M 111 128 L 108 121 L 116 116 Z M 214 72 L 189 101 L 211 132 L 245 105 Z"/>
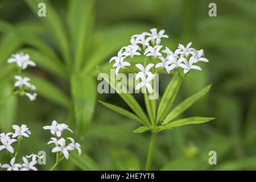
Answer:
<path fill-rule="evenodd" d="M 35 164 L 37 163 L 35 160 L 32 160 L 31 162 L 28 162 L 28 159 L 26 157 L 22 157 L 23 163 L 15 163 L 15 157 L 18 154 L 18 147 L 16 148 L 15 155 L 14 154 L 14 148 L 12 144 L 17 141 L 21 141 L 23 137 L 28 138 L 29 135 L 31 135 L 30 130 L 28 129 L 27 125 L 13 125 L 14 133 L 1 133 L 0 134 L 0 140 L 2 145 L 0 146 L 0 151 L 5 149 L 7 152 L 11 154 L 13 157 L 10 160 L 10 164 L 2 164 L 1 168 L 7 168 L 7 171 L 37 171 L 38 169 L 35 167 Z"/>

